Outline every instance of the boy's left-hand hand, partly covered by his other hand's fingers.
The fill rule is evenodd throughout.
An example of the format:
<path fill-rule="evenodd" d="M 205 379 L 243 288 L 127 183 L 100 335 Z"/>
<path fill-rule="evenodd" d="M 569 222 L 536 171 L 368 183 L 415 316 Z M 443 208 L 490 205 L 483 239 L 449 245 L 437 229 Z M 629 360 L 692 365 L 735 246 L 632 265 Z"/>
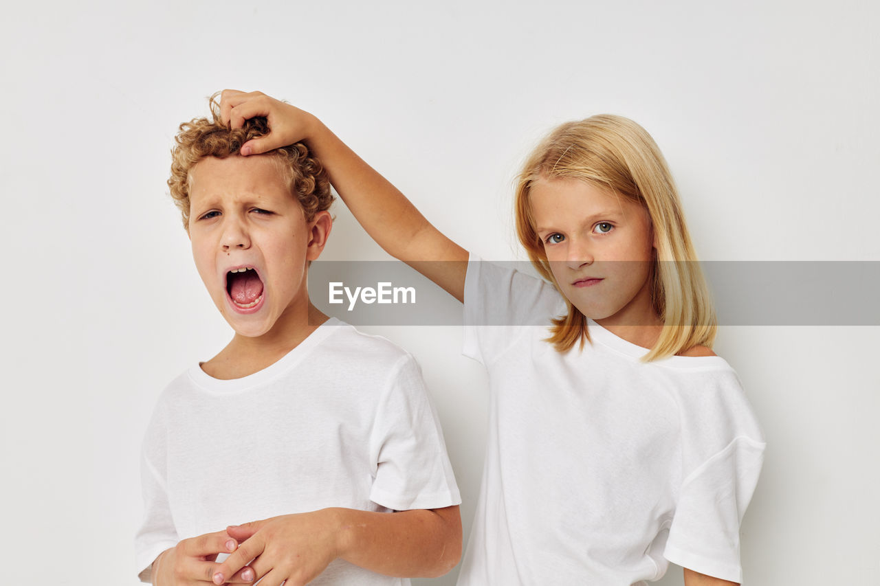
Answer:
<path fill-rule="evenodd" d="M 155 586 L 189 586 L 190 584 L 213 584 L 213 577 L 220 564 L 220 553 L 233 553 L 238 548 L 235 539 L 226 531 L 206 533 L 199 537 L 182 539 L 177 546 L 160 553 L 153 562 L 152 577 Z M 242 567 L 227 584 L 253 582 L 253 569 Z"/>

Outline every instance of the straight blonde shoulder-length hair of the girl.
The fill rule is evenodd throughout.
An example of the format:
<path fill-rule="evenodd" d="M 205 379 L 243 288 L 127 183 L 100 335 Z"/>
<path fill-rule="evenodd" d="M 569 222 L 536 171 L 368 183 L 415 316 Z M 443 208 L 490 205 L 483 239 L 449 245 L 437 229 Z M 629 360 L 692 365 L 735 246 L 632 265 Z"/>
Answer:
<path fill-rule="evenodd" d="M 660 149 L 634 121 L 599 114 L 567 122 L 532 150 L 517 177 L 517 237 L 540 275 L 561 293 L 535 231 L 529 192 L 538 179 L 581 179 L 648 210 L 656 238 L 651 300 L 663 331 L 644 362 L 694 346 L 711 348 L 717 330 L 715 306 L 687 231 L 678 191 Z M 546 341 L 559 352 L 590 341 L 587 318 L 566 299 L 568 314 L 553 320 Z"/>

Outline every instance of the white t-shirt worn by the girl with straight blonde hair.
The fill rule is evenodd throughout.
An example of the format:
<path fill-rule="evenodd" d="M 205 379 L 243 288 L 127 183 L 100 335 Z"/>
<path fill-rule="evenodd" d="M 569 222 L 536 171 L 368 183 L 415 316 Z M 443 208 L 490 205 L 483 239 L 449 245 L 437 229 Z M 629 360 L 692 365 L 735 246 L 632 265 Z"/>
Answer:
<path fill-rule="evenodd" d="M 552 285 L 471 255 L 464 354 L 488 369 L 488 447 L 459 586 L 741 582 L 739 524 L 764 439 L 718 356 L 647 353 L 590 320 L 560 354 Z"/>

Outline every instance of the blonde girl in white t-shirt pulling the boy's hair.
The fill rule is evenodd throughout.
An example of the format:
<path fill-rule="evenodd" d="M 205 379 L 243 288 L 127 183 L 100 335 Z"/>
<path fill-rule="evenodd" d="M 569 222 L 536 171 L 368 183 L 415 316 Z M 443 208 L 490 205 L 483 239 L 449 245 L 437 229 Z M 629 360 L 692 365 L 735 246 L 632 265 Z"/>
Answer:
<path fill-rule="evenodd" d="M 669 561 L 687 586 L 741 581 L 765 443 L 710 349 L 708 290 L 643 128 L 570 122 L 526 161 L 517 234 L 543 281 L 468 255 L 311 114 L 226 91 L 222 116 L 267 117 L 242 155 L 307 143 L 370 236 L 465 305 L 464 353 L 488 369 L 491 399 L 459 584 L 624 586 Z"/>

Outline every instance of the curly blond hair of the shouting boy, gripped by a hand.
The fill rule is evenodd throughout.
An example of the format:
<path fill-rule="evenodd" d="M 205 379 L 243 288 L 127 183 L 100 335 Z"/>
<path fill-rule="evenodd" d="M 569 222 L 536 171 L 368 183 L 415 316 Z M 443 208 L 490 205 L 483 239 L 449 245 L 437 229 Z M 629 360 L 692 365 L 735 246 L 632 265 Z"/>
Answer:
<path fill-rule="evenodd" d="M 211 117 L 194 118 L 180 124 L 176 145 L 171 151 L 171 178 L 168 187 L 174 205 L 180 209 L 184 228 L 189 227 L 189 191 L 192 187 L 190 172 L 193 167 L 206 157 L 226 158 L 238 156 L 241 145 L 269 134 L 268 121 L 257 117 L 245 121 L 242 128 L 229 128 L 220 120 L 220 104 L 217 101 L 219 92 L 210 97 Z M 251 155 L 254 157 L 255 155 Z M 319 211 L 330 209 L 334 196 L 330 191 L 324 166 L 312 157 L 303 143 L 294 143 L 280 149 L 270 150 L 258 157 L 273 157 L 278 170 L 290 187 L 290 194 L 297 198 L 303 207 L 305 220 L 312 218 Z"/>

